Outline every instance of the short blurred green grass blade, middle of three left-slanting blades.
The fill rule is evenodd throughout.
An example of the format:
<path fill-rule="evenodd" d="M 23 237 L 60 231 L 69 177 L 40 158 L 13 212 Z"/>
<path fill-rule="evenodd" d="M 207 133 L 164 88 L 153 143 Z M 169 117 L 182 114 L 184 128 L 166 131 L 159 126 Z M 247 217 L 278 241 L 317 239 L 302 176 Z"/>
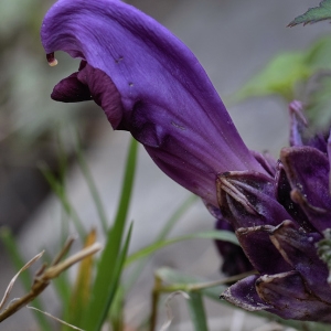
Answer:
<path fill-rule="evenodd" d="M 66 195 L 64 185 L 54 177 L 54 174 L 47 168 L 47 166 L 42 164 L 42 166 L 40 166 L 40 168 L 41 168 L 41 171 L 42 171 L 43 175 L 45 177 L 46 181 L 49 182 L 50 186 L 52 188 L 53 192 L 57 195 L 57 197 L 62 204 L 62 207 L 64 209 L 66 214 L 70 215 L 71 218 L 73 220 L 73 223 L 76 227 L 76 231 L 77 231 L 81 239 L 84 241 L 86 237 L 86 231 L 83 226 L 83 223 L 79 220 L 77 212 L 75 211 L 75 209 L 73 207 L 73 205 L 71 204 L 71 202 Z"/>

